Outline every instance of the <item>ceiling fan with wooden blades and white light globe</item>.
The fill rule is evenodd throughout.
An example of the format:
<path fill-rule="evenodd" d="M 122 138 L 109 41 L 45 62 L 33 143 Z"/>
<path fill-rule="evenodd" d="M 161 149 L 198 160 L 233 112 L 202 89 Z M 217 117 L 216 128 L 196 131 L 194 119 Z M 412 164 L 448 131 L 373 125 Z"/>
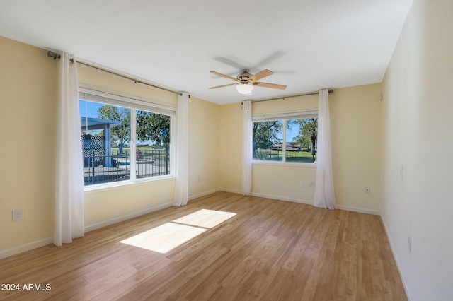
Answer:
<path fill-rule="evenodd" d="M 250 73 L 250 70 L 243 69 L 236 78 L 227 76 L 225 74 L 222 74 L 222 73 L 219 73 L 216 71 L 210 71 L 210 73 L 215 74 L 217 76 L 222 76 L 224 78 L 229 78 L 229 79 L 237 82 L 237 83 L 229 83 L 228 85 L 217 85 L 215 87 L 211 87 L 210 89 L 217 89 L 217 88 L 228 87 L 229 85 L 236 85 L 236 90 L 238 90 L 238 92 L 241 94 L 251 93 L 254 85 L 258 85 L 258 87 L 264 87 L 264 88 L 273 88 L 273 89 L 280 89 L 280 90 L 286 89 L 286 85 L 277 85 L 276 83 L 262 83 L 262 82 L 258 81 L 261 78 L 265 78 L 266 76 L 273 75 L 273 71 L 270 71 L 268 69 L 264 69 L 263 71 L 260 71 L 260 72 L 256 73 L 255 75 L 252 75 Z"/>

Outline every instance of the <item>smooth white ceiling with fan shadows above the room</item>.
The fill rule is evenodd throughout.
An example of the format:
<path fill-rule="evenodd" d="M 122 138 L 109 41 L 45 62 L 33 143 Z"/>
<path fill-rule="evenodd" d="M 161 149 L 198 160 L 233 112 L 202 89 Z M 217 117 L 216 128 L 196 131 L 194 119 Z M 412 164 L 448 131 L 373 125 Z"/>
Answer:
<path fill-rule="evenodd" d="M 0 35 L 226 104 L 382 81 L 412 0 L 2 0 Z M 243 68 L 274 71 L 240 95 Z"/>

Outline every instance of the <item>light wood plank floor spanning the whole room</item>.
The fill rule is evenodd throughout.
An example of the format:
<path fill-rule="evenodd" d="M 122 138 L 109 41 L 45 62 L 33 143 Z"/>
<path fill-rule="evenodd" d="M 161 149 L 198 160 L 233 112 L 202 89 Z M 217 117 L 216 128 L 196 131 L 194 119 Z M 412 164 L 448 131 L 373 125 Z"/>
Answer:
<path fill-rule="evenodd" d="M 163 225 L 204 232 L 165 254 L 120 242 Z M 0 283 L 21 285 L 0 300 L 407 300 L 379 216 L 226 192 L 2 259 Z"/>

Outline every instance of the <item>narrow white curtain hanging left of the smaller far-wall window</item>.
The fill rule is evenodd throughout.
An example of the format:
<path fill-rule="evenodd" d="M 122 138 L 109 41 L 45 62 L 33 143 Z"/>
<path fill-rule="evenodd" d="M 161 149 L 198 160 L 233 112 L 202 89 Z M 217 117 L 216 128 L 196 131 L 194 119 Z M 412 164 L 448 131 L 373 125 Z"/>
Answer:
<path fill-rule="evenodd" d="M 242 194 L 249 196 L 252 189 L 252 102 L 242 105 Z"/>

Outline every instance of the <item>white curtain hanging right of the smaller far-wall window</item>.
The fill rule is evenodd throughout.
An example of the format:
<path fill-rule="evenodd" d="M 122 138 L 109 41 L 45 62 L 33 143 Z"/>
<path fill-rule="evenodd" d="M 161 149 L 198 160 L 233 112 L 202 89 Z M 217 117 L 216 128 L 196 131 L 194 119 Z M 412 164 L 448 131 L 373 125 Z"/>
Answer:
<path fill-rule="evenodd" d="M 331 122 L 328 112 L 328 90 L 319 90 L 318 108 L 318 158 L 316 165 L 316 190 L 314 206 L 335 209 L 333 189 Z"/>

